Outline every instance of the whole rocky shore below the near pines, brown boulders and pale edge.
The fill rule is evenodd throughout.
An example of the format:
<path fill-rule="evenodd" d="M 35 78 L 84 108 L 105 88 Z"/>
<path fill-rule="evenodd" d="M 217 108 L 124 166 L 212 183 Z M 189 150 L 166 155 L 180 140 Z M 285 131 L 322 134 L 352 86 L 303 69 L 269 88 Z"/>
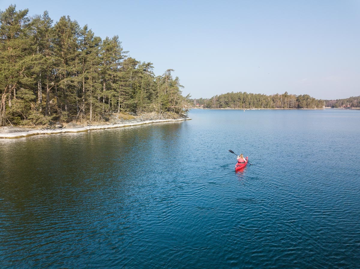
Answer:
<path fill-rule="evenodd" d="M 109 121 L 97 125 L 91 125 L 87 123 L 86 126 L 84 126 L 81 124 L 70 122 L 63 127 L 63 124 L 57 122 L 56 124 L 41 129 L 26 128 L 19 126 L 3 126 L 0 127 L 0 138 L 22 138 L 33 135 L 79 133 L 79 132 L 86 132 L 89 130 L 111 129 L 111 128 L 151 124 L 156 122 L 171 122 L 171 121 L 183 121 L 183 120 L 191 120 L 191 119 L 187 116 L 177 116 L 177 117 L 170 115 L 159 116 L 158 114 L 155 113 L 150 113 L 142 116 L 133 116 L 124 113 L 121 114 L 113 113 L 109 117 Z"/>

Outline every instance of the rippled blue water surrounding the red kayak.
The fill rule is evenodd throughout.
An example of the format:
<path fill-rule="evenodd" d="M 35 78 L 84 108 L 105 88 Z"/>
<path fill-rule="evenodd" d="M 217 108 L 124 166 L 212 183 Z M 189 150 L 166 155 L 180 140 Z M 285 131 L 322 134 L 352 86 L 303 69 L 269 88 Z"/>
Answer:
<path fill-rule="evenodd" d="M 358 268 L 360 111 L 189 116 L 0 139 L 0 268 Z"/>

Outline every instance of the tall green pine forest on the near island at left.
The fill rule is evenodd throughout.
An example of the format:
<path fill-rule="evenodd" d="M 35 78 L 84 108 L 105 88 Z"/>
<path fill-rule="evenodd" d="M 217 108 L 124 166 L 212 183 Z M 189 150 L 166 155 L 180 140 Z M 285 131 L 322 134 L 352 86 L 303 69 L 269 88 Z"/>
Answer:
<path fill-rule="evenodd" d="M 185 97 L 172 69 L 127 57 L 118 36 L 102 40 L 47 11 L 0 11 L 0 126 L 100 120 L 109 112 L 181 113 Z"/>

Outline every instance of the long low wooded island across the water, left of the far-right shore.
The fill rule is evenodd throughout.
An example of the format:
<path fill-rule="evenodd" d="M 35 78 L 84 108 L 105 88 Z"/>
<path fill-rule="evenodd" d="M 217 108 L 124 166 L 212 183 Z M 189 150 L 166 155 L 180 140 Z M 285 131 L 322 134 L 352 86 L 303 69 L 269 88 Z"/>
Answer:
<path fill-rule="evenodd" d="M 315 99 L 308 94 L 255 94 L 231 92 L 216 95 L 210 99 L 191 99 L 194 105 L 206 108 L 323 108 L 324 101 Z"/>

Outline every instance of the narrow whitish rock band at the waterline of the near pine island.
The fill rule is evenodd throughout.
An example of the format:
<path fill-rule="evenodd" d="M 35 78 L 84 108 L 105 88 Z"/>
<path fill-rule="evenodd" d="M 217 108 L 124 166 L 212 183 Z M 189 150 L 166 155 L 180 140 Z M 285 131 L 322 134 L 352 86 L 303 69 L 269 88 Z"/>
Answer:
<path fill-rule="evenodd" d="M 51 134 L 62 134 L 62 133 L 81 133 L 87 132 L 91 130 L 102 130 L 102 129 L 114 129 L 121 127 L 130 127 L 136 125 L 144 125 L 144 124 L 152 124 L 159 122 L 174 122 L 174 121 L 184 121 L 191 120 L 191 118 L 180 118 L 180 119 L 158 119 L 158 120 L 144 120 L 137 122 L 124 122 L 117 124 L 104 124 L 104 125 L 89 125 L 89 126 L 79 126 L 74 128 L 59 128 L 59 129 L 28 129 L 22 131 L 13 131 L 7 133 L 1 133 L 0 138 L 2 139 L 13 139 L 13 138 L 24 138 L 33 135 L 51 135 Z M 3 126 L 3 127 L 11 127 L 11 126 Z M 0 127 L 1 129 L 1 127 Z"/>

